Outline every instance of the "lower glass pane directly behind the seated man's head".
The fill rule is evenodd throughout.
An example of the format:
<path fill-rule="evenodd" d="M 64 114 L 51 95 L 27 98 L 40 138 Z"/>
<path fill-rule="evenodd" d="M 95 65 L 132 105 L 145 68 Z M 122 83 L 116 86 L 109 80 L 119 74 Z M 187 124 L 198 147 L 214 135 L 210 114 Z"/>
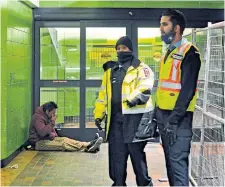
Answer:
<path fill-rule="evenodd" d="M 41 88 L 40 105 L 54 101 L 58 105 L 56 124 L 58 127 L 80 127 L 79 88 Z"/>

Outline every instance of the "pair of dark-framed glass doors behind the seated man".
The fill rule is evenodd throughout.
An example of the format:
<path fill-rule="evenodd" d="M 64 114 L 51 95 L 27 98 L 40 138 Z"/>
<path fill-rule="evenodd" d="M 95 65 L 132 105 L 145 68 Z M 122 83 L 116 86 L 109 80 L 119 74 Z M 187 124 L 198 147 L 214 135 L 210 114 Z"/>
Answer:
<path fill-rule="evenodd" d="M 115 43 L 131 36 L 130 28 L 121 21 L 35 22 L 34 110 L 55 101 L 60 136 L 83 141 L 95 136 L 102 65 L 116 60 Z"/>

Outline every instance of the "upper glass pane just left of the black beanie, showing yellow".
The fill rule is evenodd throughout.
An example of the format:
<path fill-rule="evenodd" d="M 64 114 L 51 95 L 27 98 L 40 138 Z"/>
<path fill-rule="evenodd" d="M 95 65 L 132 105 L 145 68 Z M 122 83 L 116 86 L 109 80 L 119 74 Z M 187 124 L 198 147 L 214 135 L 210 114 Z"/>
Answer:
<path fill-rule="evenodd" d="M 86 28 L 86 79 L 102 78 L 102 65 L 109 60 L 117 60 L 115 44 L 125 35 L 125 27 Z"/>

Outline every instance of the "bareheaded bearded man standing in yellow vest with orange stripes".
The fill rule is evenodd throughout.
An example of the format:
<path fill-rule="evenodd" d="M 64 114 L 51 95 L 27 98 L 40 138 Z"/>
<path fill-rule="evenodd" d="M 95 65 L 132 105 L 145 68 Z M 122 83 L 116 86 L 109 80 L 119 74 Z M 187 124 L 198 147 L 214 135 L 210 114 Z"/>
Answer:
<path fill-rule="evenodd" d="M 201 66 L 198 49 L 182 38 L 185 25 L 185 16 L 178 10 L 162 14 L 161 38 L 169 47 L 160 62 L 156 120 L 170 186 L 189 186 L 188 156 Z"/>

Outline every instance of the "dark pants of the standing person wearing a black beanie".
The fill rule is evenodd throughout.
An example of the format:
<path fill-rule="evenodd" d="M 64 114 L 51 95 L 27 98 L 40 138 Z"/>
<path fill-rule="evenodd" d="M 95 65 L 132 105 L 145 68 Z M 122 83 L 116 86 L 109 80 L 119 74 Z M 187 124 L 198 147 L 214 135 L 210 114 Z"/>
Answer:
<path fill-rule="evenodd" d="M 109 134 L 109 176 L 113 186 L 126 186 L 127 159 L 130 155 L 138 186 L 152 186 L 148 176 L 146 142 L 124 143 L 122 124 L 118 119 L 111 123 Z"/>

